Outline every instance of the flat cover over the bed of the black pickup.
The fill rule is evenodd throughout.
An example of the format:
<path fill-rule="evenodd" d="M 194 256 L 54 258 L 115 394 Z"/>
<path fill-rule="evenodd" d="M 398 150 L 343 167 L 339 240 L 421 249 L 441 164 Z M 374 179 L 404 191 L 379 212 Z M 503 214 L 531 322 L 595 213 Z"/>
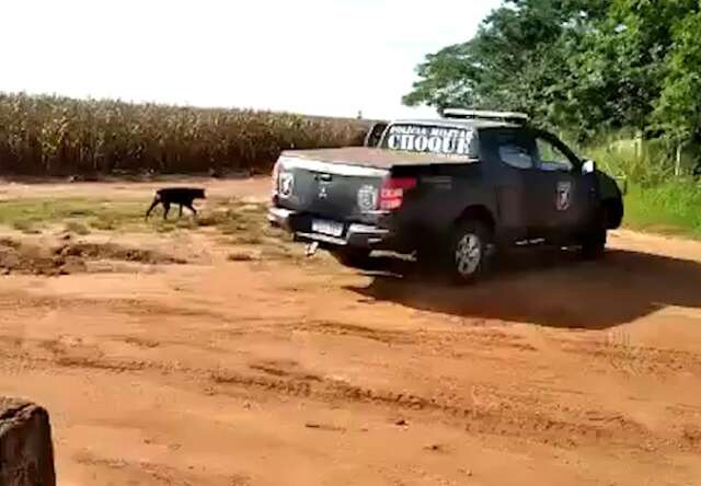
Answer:
<path fill-rule="evenodd" d="M 474 162 L 466 157 L 447 157 L 435 153 L 400 152 L 366 147 L 342 149 L 287 150 L 281 157 L 307 159 L 317 162 L 358 165 L 374 169 L 390 169 L 398 165 L 464 164 Z"/>

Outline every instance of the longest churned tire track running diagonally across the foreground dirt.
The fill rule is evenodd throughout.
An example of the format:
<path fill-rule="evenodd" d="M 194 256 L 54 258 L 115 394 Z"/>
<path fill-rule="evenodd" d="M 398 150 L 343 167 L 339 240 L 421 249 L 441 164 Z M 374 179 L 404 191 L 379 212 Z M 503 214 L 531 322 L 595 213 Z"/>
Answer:
<path fill-rule="evenodd" d="M 460 398 L 365 387 L 303 370 L 290 370 L 289 364 L 252 364 L 252 372 L 245 373 L 232 369 L 187 367 L 177 362 L 115 359 L 94 350 L 92 356 L 91 352 L 81 356 L 71 354 L 76 351 L 74 348 L 56 346 L 55 343 L 39 344 L 38 349 L 44 349 L 44 356 L 37 356 L 32 349 L 9 350 L 3 346 L 0 348 L 3 368 L 12 369 L 14 364 L 19 364 L 18 361 L 22 361 L 34 371 L 44 370 L 53 373 L 60 369 L 100 373 L 157 373 L 170 377 L 181 386 L 185 383 L 189 383 L 191 386 L 204 386 L 209 394 L 226 395 L 228 389 L 233 387 L 233 392 L 243 389 L 268 393 L 273 397 L 286 395 L 324 403 L 380 406 L 420 414 L 428 420 L 450 420 L 469 433 L 508 436 L 562 448 L 607 443 L 631 448 L 645 444 L 654 449 L 686 445 L 697 450 L 699 445 L 693 431 L 687 432 L 690 439 L 683 442 L 681 438 L 670 442 L 668 438 L 656 437 L 642 425 L 622 415 L 590 412 L 584 416 L 561 418 L 548 413 L 532 413 L 532 407 L 518 404 L 517 396 L 502 395 L 502 406 L 485 407 L 480 404 L 467 404 Z"/>

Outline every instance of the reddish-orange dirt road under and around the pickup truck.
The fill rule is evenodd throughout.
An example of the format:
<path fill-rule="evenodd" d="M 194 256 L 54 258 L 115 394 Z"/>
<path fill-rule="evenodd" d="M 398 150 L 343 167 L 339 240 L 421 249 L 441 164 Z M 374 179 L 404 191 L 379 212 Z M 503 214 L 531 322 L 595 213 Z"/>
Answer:
<path fill-rule="evenodd" d="M 37 190 L 74 187 L 152 188 Z M 620 231 L 466 289 L 148 244 L 191 263 L 0 277 L 0 386 L 49 409 L 62 485 L 701 481 L 700 243 Z"/>

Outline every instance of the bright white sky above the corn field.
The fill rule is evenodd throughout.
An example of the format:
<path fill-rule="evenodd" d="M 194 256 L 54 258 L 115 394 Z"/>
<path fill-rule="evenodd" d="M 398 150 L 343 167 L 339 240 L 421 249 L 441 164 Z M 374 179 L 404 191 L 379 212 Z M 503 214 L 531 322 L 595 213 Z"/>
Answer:
<path fill-rule="evenodd" d="M 0 91 L 310 115 L 402 106 L 499 0 L 4 0 Z"/>

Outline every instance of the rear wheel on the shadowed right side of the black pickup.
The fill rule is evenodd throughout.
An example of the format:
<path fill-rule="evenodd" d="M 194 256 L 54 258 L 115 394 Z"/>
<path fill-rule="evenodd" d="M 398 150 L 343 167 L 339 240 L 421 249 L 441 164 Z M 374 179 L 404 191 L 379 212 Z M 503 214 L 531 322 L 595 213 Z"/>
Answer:
<path fill-rule="evenodd" d="M 451 280 L 474 284 L 487 269 L 492 232 L 482 222 L 469 220 L 456 227 L 445 256 Z"/>

